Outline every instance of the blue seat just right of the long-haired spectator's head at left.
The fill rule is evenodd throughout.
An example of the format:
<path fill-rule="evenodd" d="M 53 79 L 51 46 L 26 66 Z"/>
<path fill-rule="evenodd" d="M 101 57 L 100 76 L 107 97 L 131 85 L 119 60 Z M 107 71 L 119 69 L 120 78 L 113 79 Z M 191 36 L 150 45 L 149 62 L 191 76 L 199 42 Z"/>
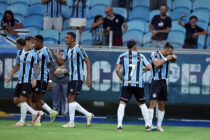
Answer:
<path fill-rule="evenodd" d="M 43 17 L 42 16 L 30 16 L 23 20 L 24 27 L 34 27 L 37 30 L 40 30 L 43 26 Z"/>

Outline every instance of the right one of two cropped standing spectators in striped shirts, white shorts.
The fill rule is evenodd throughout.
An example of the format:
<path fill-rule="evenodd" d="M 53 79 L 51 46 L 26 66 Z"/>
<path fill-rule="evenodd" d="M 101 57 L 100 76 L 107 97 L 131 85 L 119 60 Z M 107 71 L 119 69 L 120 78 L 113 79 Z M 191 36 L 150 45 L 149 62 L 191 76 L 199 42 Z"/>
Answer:
<path fill-rule="evenodd" d="M 79 30 L 80 35 L 86 26 L 85 14 L 86 0 L 73 0 L 70 26 L 73 30 Z"/>

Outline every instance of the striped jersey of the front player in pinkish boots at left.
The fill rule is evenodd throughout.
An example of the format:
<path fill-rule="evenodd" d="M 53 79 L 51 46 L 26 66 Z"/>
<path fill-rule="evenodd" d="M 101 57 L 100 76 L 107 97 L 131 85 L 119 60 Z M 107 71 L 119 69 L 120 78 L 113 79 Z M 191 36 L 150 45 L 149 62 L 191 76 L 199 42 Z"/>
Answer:
<path fill-rule="evenodd" d="M 37 54 L 34 52 L 34 50 L 18 50 L 16 63 L 20 64 L 18 83 L 31 83 L 31 81 L 34 79 L 34 65 L 38 64 Z"/>

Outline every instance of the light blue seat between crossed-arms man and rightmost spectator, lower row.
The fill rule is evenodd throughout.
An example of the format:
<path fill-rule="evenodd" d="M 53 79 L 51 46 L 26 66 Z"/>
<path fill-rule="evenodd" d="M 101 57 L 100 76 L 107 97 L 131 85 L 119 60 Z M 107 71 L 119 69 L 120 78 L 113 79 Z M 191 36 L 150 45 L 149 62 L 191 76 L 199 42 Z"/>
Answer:
<path fill-rule="evenodd" d="M 171 31 L 168 35 L 167 41 L 170 42 L 174 48 L 182 48 L 184 39 L 185 33 L 180 31 Z"/>

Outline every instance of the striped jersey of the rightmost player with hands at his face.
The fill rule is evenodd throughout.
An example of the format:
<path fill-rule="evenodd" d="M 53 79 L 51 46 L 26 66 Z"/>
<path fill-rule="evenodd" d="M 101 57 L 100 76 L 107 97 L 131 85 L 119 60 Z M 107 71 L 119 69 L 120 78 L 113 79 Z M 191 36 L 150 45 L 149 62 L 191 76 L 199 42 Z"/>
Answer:
<path fill-rule="evenodd" d="M 155 65 L 152 63 L 153 59 L 158 59 L 158 60 L 162 60 L 165 57 L 159 52 L 159 51 L 155 51 L 151 53 L 151 57 L 150 57 L 150 64 L 152 66 L 152 69 L 150 70 L 151 75 L 150 75 L 150 83 L 152 80 L 162 80 L 162 79 L 167 79 L 168 78 L 168 66 L 169 66 L 169 61 L 163 63 L 162 66 L 160 67 L 155 67 Z"/>

